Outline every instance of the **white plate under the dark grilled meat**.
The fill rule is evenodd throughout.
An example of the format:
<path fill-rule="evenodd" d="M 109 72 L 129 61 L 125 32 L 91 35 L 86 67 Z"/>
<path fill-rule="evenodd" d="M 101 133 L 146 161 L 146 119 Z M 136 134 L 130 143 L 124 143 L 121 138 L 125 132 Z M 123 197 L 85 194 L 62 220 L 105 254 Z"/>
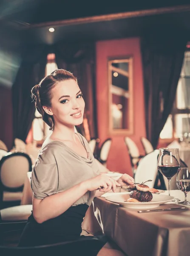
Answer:
<path fill-rule="evenodd" d="M 160 204 L 164 204 L 173 199 L 173 196 L 170 195 L 156 195 L 153 194 L 153 199 L 150 202 L 144 203 L 133 203 L 133 202 L 125 202 L 130 198 L 129 194 L 118 193 L 117 195 L 109 195 L 105 199 L 111 201 L 113 203 L 119 204 L 122 207 L 127 208 L 136 208 L 136 209 L 147 209 L 158 207 Z"/>

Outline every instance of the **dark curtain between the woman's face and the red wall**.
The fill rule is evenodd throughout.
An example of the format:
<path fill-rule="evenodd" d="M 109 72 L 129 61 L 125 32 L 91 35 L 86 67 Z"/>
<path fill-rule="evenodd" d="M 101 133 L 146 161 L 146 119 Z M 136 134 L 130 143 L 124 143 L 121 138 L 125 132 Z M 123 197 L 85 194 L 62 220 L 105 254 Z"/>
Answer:
<path fill-rule="evenodd" d="M 57 67 L 68 70 L 77 77 L 85 100 L 84 117 L 88 120 L 90 137 L 97 137 L 95 44 L 74 42 L 57 44 L 54 47 Z M 83 125 L 77 126 L 77 130 L 85 136 Z"/>

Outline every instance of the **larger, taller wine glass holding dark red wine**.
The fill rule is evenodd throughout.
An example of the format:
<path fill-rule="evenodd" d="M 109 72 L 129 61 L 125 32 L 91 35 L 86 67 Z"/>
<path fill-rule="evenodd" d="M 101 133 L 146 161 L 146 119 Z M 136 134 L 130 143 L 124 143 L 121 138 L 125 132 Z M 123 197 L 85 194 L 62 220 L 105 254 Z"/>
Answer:
<path fill-rule="evenodd" d="M 180 167 L 180 157 L 178 148 L 159 148 L 158 169 L 168 180 L 168 195 L 170 195 L 170 181 Z M 172 202 L 180 201 L 173 198 Z"/>

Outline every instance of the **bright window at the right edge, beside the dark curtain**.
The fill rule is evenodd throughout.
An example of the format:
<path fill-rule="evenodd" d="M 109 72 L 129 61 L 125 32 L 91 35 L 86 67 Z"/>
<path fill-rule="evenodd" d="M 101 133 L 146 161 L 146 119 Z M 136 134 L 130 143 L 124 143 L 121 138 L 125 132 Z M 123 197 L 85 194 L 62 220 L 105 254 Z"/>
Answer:
<path fill-rule="evenodd" d="M 190 48 L 190 42 L 187 48 Z M 190 137 L 190 51 L 184 54 L 173 110 L 160 133 L 161 139 L 187 136 Z"/>

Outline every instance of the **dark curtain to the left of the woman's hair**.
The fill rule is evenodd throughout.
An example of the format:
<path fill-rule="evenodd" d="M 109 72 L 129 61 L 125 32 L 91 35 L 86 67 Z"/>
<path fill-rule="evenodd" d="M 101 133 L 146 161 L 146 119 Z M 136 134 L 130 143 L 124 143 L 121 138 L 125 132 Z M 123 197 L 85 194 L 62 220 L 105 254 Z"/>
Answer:
<path fill-rule="evenodd" d="M 45 46 L 27 47 L 12 86 L 13 139 L 25 141 L 34 119 L 35 106 L 31 88 L 45 76 L 47 52 Z"/>

